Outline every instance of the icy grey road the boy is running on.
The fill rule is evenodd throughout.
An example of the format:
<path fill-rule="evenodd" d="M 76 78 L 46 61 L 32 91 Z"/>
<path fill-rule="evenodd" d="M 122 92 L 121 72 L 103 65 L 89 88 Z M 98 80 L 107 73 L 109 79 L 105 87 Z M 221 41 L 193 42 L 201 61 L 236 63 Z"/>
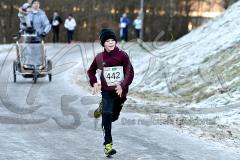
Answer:
<path fill-rule="evenodd" d="M 73 80 L 77 69 L 83 66 L 79 48 L 73 48 L 70 54 L 63 56 L 70 47 L 59 50 L 56 46 L 48 46 L 49 58 L 55 62 L 55 75 L 51 83 L 43 78 L 36 85 L 20 76 L 17 83 L 12 83 L 15 54 L 11 52 L 7 58 L 6 52 L 0 54 L 1 160 L 105 159 L 100 121 L 89 116 L 96 105 L 81 103 L 81 99 L 90 93 Z M 56 55 L 56 52 L 59 53 Z M 82 78 L 85 78 L 84 74 Z M 138 120 L 144 118 L 145 115 L 137 113 L 121 114 L 113 125 L 114 147 L 118 151 L 113 159 L 240 159 L 236 151 L 179 133 L 171 126 L 142 125 Z"/>

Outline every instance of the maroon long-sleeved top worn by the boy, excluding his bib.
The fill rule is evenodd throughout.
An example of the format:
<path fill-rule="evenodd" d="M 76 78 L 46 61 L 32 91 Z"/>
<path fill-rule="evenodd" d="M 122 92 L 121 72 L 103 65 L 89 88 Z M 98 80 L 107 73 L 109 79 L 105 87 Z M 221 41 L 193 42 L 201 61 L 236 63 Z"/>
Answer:
<path fill-rule="evenodd" d="M 90 84 L 93 87 L 93 84 L 97 82 L 96 71 L 100 69 L 102 71 L 100 76 L 102 91 L 115 91 L 116 86 L 108 86 L 103 75 L 104 67 L 114 66 L 123 66 L 124 79 L 120 85 L 123 89 L 123 96 L 126 96 L 128 87 L 133 81 L 134 70 L 127 53 L 120 50 L 118 47 L 115 47 L 114 50 L 109 53 L 104 50 L 94 58 L 87 72 Z"/>

